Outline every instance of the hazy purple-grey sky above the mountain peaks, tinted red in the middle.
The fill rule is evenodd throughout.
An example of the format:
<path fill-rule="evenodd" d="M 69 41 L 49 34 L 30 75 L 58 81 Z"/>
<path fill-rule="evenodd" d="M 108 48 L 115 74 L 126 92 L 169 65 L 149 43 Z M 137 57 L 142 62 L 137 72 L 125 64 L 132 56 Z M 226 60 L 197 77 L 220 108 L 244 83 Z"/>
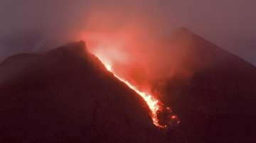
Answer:
<path fill-rule="evenodd" d="M 0 57 L 64 44 L 81 31 L 143 23 L 156 35 L 185 26 L 256 65 L 254 0 L 1 0 Z"/>

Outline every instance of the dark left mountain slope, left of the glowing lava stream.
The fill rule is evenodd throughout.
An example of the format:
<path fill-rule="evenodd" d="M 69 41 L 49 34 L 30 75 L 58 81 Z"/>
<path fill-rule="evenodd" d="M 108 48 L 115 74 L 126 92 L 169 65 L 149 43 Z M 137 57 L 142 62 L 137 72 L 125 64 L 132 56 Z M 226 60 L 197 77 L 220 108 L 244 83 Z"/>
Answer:
<path fill-rule="evenodd" d="M 18 73 L 0 84 L 0 142 L 164 142 L 143 99 L 83 42 L 10 57 L 0 74 L 6 67 Z"/>

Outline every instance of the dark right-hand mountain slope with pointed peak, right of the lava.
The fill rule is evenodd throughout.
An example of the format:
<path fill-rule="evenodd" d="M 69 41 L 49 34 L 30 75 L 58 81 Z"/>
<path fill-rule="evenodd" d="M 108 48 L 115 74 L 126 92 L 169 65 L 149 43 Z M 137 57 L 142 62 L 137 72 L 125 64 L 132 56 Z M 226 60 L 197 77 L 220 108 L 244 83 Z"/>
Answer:
<path fill-rule="evenodd" d="M 184 142 L 255 142 L 256 68 L 185 28 L 169 45 L 181 48 L 183 69 L 193 71 L 161 86 Z"/>

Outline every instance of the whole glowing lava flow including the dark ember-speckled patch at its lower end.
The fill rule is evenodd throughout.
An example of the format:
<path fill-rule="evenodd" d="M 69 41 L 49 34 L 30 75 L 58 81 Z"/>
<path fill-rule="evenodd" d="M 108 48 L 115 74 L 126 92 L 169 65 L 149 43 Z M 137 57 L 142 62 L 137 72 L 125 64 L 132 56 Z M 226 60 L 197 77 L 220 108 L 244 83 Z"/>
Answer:
<path fill-rule="evenodd" d="M 98 58 L 100 59 L 100 57 Z M 100 60 L 105 65 L 106 69 L 112 72 L 112 74 L 114 74 L 111 65 L 107 64 L 107 62 L 104 62 L 104 60 L 102 59 Z M 169 128 L 180 123 L 178 117 L 172 113 L 171 109 L 166 107 L 163 103 L 161 103 L 150 93 L 139 91 L 136 86 L 129 83 L 129 81 L 117 76 L 117 74 L 114 74 L 114 76 L 120 81 L 122 81 L 124 84 L 129 86 L 129 88 L 131 88 L 133 91 L 138 93 L 139 96 L 142 96 L 142 98 L 144 98 L 144 101 L 146 101 L 147 105 L 149 106 L 149 109 L 151 110 L 151 118 L 156 127 Z"/>

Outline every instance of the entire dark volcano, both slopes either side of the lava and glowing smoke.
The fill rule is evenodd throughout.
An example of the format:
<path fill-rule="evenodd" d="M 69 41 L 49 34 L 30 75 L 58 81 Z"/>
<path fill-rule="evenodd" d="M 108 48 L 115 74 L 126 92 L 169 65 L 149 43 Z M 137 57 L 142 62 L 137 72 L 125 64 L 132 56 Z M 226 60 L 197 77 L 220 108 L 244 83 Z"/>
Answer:
<path fill-rule="evenodd" d="M 73 42 L 1 62 L 0 142 L 255 142 L 256 68 L 186 28 L 165 43 L 190 73 L 154 83 L 177 127 L 154 126 L 144 99 Z"/>

